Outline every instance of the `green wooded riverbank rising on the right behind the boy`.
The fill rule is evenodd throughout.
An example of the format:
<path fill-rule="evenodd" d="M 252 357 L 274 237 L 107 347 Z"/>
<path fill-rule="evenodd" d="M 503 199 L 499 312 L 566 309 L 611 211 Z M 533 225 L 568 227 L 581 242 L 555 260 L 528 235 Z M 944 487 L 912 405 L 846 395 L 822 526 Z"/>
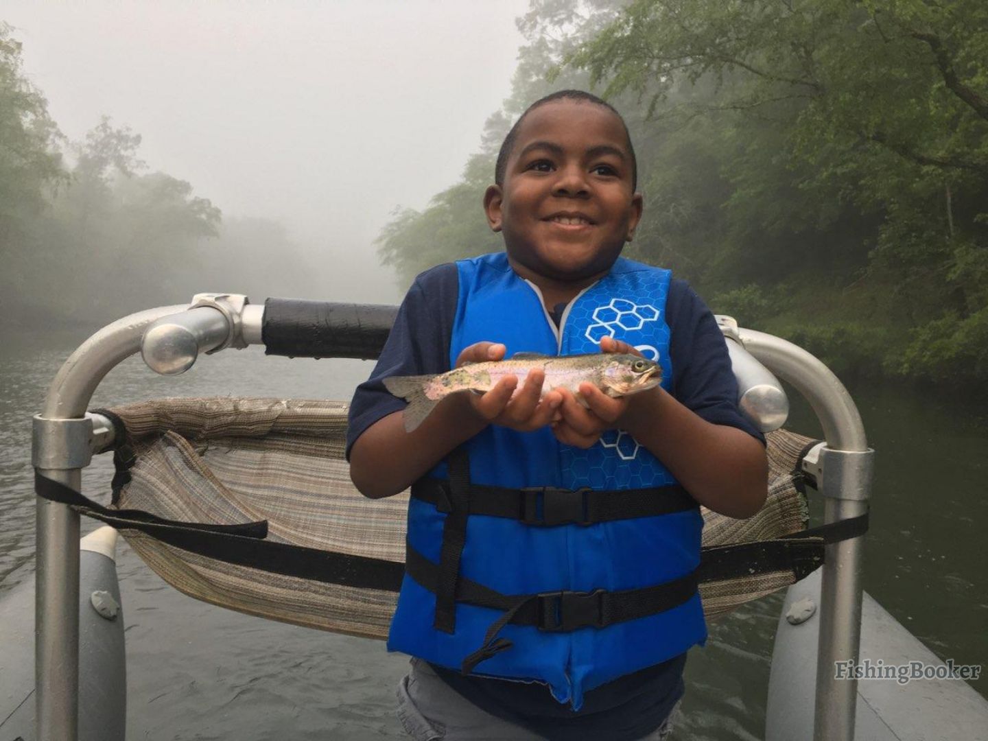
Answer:
<path fill-rule="evenodd" d="M 988 379 L 988 5 L 535 0 L 512 96 L 459 182 L 378 238 L 407 285 L 499 248 L 508 126 L 553 90 L 626 117 L 645 219 L 625 254 L 835 371 Z"/>

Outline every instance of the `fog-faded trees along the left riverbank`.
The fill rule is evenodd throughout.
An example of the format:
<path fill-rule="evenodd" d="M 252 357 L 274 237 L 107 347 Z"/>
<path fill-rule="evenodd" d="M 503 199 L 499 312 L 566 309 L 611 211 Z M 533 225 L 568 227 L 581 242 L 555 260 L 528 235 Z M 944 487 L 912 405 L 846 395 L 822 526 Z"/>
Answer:
<path fill-rule="evenodd" d="M 315 295 L 286 227 L 222 218 L 193 186 L 140 159 L 103 119 L 69 140 L 0 22 L 0 296 L 4 323 L 98 325 L 206 290 Z M 253 292 L 251 292 L 253 291 Z"/>

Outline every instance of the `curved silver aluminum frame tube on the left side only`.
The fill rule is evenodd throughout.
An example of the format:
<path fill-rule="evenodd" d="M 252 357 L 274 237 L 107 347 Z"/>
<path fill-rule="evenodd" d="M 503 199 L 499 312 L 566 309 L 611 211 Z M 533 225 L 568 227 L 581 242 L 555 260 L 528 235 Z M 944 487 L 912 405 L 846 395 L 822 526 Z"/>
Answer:
<path fill-rule="evenodd" d="M 41 413 L 79 419 L 103 377 L 140 349 L 147 326 L 186 309 L 165 306 L 124 317 L 79 346 L 55 375 Z M 81 468 L 39 468 L 76 491 Z M 35 708 L 39 741 L 77 741 L 79 734 L 79 515 L 38 497 L 35 571 Z"/>

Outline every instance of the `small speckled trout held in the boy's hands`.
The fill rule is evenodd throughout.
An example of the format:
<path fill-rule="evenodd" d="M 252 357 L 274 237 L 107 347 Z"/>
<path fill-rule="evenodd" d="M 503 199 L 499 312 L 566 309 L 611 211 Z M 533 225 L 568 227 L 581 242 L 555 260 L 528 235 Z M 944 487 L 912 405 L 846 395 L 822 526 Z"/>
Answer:
<path fill-rule="evenodd" d="M 593 383 L 608 396 L 617 398 L 654 388 L 662 381 L 662 367 L 658 363 L 629 353 L 568 356 L 517 353 L 511 360 L 466 363 L 435 375 L 392 375 L 384 378 L 383 383 L 389 393 L 408 402 L 405 432 L 412 432 L 450 394 L 484 393 L 506 375 L 518 376 L 518 388 L 521 388 L 535 369 L 545 373 L 541 397 L 554 388 L 566 388 L 584 406 L 587 402 L 579 390 L 584 382 Z"/>

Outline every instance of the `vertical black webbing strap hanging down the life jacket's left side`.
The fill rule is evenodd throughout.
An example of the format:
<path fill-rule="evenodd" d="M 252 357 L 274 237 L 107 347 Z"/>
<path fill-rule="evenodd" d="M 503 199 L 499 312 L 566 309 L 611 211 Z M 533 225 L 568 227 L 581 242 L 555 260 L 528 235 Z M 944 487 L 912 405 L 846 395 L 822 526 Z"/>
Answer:
<path fill-rule="evenodd" d="M 447 513 L 443 526 L 443 547 L 440 550 L 439 572 L 435 582 L 436 617 L 433 627 L 446 633 L 456 628 L 456 579 L 459 576 L 459 557 L 466 543 L 466 518 L 470 504 L 470 463 L 466 451 L 457 448 L 447 461 L 450 486 L 445 490 L 446 501 L 437 507 Z"/>

